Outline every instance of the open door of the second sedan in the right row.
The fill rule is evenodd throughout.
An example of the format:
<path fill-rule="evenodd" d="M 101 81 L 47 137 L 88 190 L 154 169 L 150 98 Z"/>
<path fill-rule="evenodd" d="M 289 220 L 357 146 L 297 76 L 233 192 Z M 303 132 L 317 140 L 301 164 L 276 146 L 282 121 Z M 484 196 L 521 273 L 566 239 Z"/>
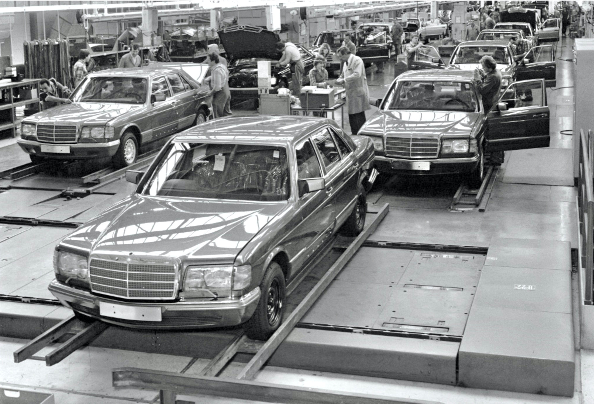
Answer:
<path fill-rule="evenodd" d="M 535 46 L 517 63 L 516 79 L 545 79 L 546 87 L 557 85 L 557 63 L 552 45 Z"/>

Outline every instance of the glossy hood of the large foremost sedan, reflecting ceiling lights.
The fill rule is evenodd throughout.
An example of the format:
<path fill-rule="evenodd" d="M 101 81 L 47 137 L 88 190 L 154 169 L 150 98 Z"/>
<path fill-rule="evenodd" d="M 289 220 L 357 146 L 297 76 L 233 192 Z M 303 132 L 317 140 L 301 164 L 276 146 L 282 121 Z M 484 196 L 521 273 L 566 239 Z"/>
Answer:
<path fill-rule="evenodd" d="M 91 219 L 61 244 L 91 253 L 233 263 L 248 241 L 286 206 L 135 193 Z"/>

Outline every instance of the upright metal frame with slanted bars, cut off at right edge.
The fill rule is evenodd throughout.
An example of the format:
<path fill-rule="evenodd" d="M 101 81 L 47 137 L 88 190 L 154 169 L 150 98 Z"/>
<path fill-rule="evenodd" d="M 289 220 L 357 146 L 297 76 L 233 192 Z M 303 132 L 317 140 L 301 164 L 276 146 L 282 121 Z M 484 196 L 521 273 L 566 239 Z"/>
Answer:
<path fill-rule="evenodd" d="M 586 271 L 584 304 L 593 304 L 592 289 L 592 271 L 594 268 L 594 192 L 592 190 L 592 177 L 594 166 L 592 157 L 594 157 L 594 139 L 590 129 L 586 135 L 580 129 L 580 164 L 577 185 L 577 202 L 579 209 L 580 234 L 582 235 L 582 265 Z"/>

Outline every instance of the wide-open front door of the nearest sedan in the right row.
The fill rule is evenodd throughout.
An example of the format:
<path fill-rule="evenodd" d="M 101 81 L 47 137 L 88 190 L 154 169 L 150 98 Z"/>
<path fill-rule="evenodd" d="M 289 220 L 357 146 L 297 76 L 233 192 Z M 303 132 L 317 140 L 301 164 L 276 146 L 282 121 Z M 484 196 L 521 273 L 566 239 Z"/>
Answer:
<path fill-rule="evenodd" d="M 487 114 L 486 151 L 548 147 L 549 107 L 544 79 L 511 83 L 500 98 L 507 110 L 496 106 Z"/>

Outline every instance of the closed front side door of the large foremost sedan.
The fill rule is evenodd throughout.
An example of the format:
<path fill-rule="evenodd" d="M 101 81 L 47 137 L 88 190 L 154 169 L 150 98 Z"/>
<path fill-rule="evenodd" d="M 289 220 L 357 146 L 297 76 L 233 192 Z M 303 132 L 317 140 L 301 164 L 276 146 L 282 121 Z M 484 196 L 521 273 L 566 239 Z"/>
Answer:
<path fill-rule="evenodd" d="M 297 178 L 300 180 L 323 178 L 324 171 L 315 146 L 309 137 L 295 146 Z M 299 196 L 297 203 L 302 220 L 284 241 L 291 263 L 292 278 L 314 256 L 317 247 L 331 236 L 336 215 L 328 195 L 328 186 Z"/>

